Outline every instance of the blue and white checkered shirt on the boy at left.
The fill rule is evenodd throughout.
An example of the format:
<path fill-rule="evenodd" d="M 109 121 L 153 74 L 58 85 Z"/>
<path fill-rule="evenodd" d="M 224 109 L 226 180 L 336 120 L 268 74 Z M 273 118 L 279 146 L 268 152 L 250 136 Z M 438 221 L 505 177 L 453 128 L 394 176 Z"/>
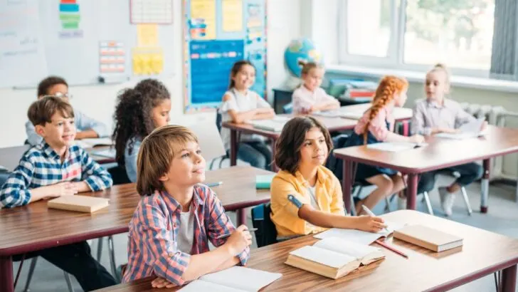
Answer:
<path fill-rule="evenodd" d="M 112 186 L 112 177 L 78 145 L 72 145 L 61 158 L 47 143 L 31 147 L 20 165 L 0 189 L 0 206 L 18 207 L 31 202 L 31 189 L 58 182 L 85 181 L 95 191 Z"/>

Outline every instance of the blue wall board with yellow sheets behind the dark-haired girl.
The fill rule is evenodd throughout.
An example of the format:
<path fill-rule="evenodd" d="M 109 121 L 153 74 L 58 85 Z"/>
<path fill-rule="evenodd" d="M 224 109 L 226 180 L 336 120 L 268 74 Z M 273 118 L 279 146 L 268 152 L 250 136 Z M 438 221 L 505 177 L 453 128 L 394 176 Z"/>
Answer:
<path fill-rule="evenodd" d="M 184 0 L 185 112 L 217 108 L 243 59 L 266 98 L 266 0 Z"/>

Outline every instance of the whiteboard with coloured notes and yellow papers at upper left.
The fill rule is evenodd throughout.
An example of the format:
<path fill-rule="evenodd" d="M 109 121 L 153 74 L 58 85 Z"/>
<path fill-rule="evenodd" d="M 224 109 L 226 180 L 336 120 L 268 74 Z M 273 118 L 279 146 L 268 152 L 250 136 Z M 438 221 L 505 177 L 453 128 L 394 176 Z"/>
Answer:
<path fill-rule="evenodd" d="M 0 88 L 173 75 L 173 1 L 0 0 Z"/>

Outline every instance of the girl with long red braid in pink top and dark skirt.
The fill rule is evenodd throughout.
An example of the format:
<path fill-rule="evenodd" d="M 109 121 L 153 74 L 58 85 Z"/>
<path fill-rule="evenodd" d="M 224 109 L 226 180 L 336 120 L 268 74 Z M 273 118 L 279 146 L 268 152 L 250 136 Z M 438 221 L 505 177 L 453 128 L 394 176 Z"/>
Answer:
<path fill-rule="evenodd" d="M 415 142 L 424 141 L 423 136 L 405 137 L 393 132 L 394 107 L 402 107 L 406 101 L 408 81 L 396 76 L 385 76 L 381 79 L 369 110 L 359 119 L 354 131 L 346 142 L 346 147 L 374 144 L 379 142 Z M 386 196 L 397 194 L 405 188 L 401 173 L 385 167 L 374 167 L 359 163 L 356 167 L 356 181 L 375 184 L 376 189 L 365 199 L 356 203 L 356 214 L 363 214 L 361 205 L 373 209 Z M 400 204 L 401 205 L 401 204 Z"/>

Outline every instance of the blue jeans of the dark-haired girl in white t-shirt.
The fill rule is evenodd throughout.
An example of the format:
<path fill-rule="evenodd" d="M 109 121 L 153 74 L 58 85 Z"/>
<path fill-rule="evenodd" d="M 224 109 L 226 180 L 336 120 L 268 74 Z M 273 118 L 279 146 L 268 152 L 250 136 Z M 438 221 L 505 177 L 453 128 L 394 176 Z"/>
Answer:
<path fill-rule="evenodd" d="M 253 167 L 268 170 L 272 163 L 272 152 L 263 141 L 240 142 L 238 159 L 250 163 Z"/>

